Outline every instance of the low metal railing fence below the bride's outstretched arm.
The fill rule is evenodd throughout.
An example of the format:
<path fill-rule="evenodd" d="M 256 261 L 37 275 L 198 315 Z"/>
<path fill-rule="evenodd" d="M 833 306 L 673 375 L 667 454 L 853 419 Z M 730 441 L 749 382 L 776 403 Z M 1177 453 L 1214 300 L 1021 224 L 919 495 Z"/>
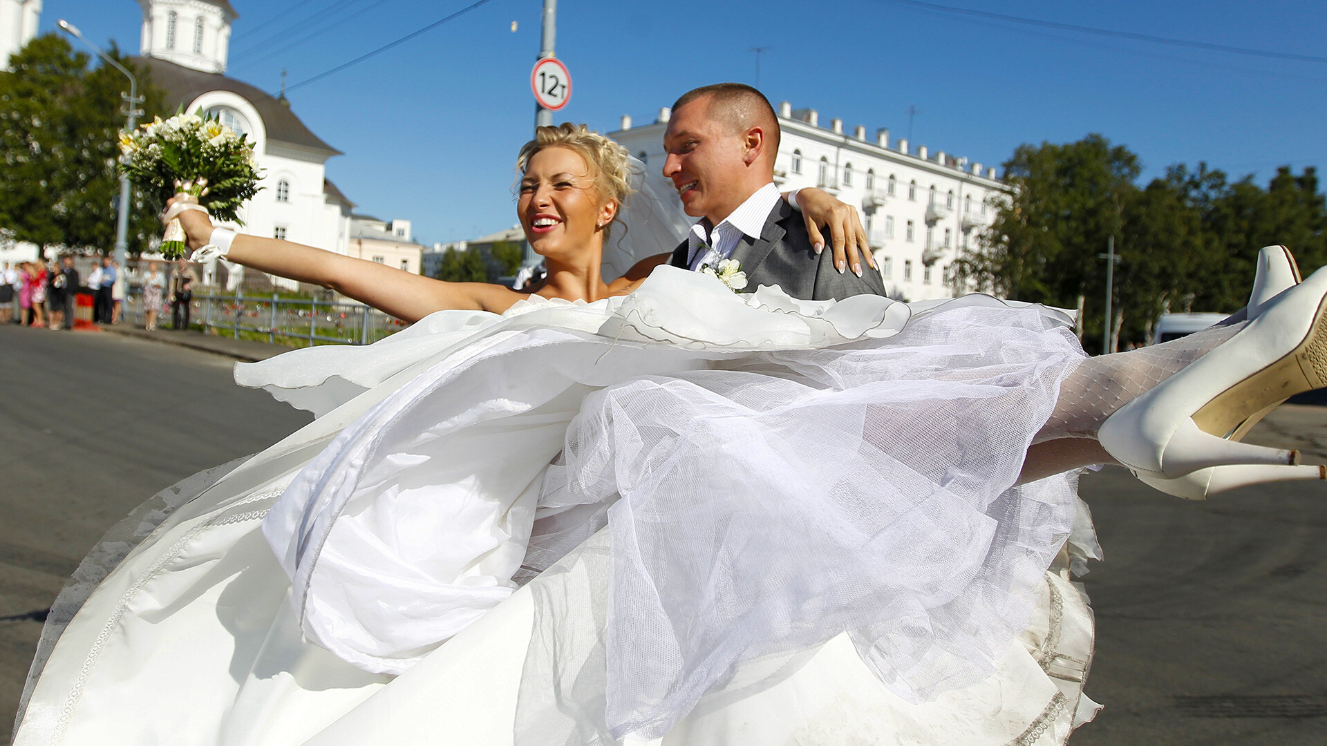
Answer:
<path fill-rule="evenodd" d="M 135 288 L 137 289 L 137 288 Z M 146 321 L 142 295 L 125 299 L 125 316 Z M 158 327 L 171 325 L 170 304 L 157 315 Z M 405 321 L 358 303 L 243 293 L 194 293 L 190 327 L 203 333 L 228 335 L 288 345 L 373 344 L 406 327 Z"/>

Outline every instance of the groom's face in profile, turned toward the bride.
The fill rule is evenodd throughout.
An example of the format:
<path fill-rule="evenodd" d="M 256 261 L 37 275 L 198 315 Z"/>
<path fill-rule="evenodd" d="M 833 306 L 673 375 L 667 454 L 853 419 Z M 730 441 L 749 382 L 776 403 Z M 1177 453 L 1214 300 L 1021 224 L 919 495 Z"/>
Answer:
<path fill-rule="evenodd" d="M 711 117 L 710 102 L 705 96 L 673 112 L 664 133 L 664 175 L 673 179 L 687 215 L 718 223 L 747 196 L 738 183 L 746 163 L 742 133 Z"/>

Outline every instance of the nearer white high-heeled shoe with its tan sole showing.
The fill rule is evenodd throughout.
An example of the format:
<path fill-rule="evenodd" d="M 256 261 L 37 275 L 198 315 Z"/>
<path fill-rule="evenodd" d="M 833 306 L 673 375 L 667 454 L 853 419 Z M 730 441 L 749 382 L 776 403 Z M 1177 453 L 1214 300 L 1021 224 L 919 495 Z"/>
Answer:
<path fill-rule="evenodd" d="M 1135 475 L 1151 479 L 1226 465 L 1298 465 L 1299 451 L 1230 438 L 1241 437 L 1286 398 L 1324 385 L 1324 301 L 1327 272 L 1322 271 L 1262 300 L 1250 309 L 1253 319 L 1245 329 L 1112 414 L 1097 434 L 1101 446 Z M 1312 478 L 1310 470 L 1282 474 L 1306 479 Z M 1205 492 L 1210 494 L 1216 477 L 1208 479 Z M 1231 481 L 1222 477 L 1218 482 Z"/>

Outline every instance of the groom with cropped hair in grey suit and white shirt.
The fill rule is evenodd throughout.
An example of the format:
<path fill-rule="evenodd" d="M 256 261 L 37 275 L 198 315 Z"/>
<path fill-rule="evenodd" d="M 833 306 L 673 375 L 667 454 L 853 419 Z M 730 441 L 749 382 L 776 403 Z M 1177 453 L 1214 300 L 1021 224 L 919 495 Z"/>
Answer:
<path fill-rule="evenodd" d="M 874 268 L 855 261 L 853 269 L 840 271 L 831 251 L 817 254 L 802 215 L 780 199 L 774 185 L 779 119 L 759 90 L 721 82 L 682 94 L 664 149 L 664 175 L 673 179 L 686 214 L 701 220 L 671 256 L 646 259 L 628 276 L 644 277 L 665 261 L 699 269 L 735 259 L 748 288 L 779 285 L 809 300 L 885 295 Z"/>

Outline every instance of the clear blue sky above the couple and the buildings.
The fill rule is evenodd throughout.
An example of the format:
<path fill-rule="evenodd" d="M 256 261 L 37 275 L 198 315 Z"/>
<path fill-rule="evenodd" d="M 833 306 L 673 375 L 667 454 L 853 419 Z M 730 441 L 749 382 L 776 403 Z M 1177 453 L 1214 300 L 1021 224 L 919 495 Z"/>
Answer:
<path fill-rule="evenodd" d="M 275 93 L 283 68 L 295 85 L 472 0 L 231 1 L 240 19 L 228 74 Z M 937 1 L 1327 57 L 1327 7 L 1319 0 Z M 557 56 L 575 82 L 559 121 L 600 131 L 617 129 L 621 114 L 653 121 L 660 106 L 698 85 L 755 82 L 748 49 L 771 46 L 759 84 L 775 104 L 819 109 L 823 122 L 840 117 L 849 127 L 890 127 L 896 137 L 905 134 L 906 110 L 916 105 L 914 143 L 983 163 L 1003 162 L 1023 142 L 1067 142 L 1093 131 L 1136 151 L 1147 177 L 1170 163 L 1208 161 L 1265 182 L 1278 165 L 1298 171 L 1327 162 L 1323 62 L 1091 36 L 884 0 L 559 5 Z M 528 76 L 539 52 L 540 8 L 540 0 L 490 0 L 289 94 L 304 122 L 345 151 L 328 162 L 328 175 L 361 212 L 413 219 L 417 239 L 427 243 L 515 224 L 512 159 L 533 126 Z M 141 11 L 133 0 L 45 0 L 42 32 L 61 17 L 89 38 L 138 50 Z M 300 21 L 307 23 L 284 31 Z M 283 49 L 324 25 L 324 33 Z"/>

